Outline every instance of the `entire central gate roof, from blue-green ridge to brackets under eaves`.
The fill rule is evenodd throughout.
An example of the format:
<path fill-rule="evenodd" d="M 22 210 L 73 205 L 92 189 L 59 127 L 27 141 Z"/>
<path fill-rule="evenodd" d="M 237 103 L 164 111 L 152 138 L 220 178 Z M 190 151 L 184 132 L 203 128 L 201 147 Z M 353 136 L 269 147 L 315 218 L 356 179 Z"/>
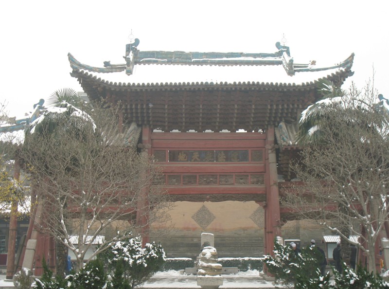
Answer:
<path fill-rule="evenodd" d="M 353 75 L 354 54 L 335 65 L 298 64 L 287 47 L 263 53 L 139 51 L 126 46 L 124 64 L 92 67 L 68 54 L 71 76 L 91 101 L 123 104 L 124 122 L 165 132 L 236 131 L 293 122 L 317 101 L 317 83 Z"/>

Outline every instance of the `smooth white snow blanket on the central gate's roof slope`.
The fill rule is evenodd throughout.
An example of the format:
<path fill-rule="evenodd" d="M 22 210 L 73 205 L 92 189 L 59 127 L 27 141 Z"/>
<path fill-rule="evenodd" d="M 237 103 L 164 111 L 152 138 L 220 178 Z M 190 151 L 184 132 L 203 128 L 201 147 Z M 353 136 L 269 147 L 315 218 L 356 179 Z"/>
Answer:
<path fill-rule="evenodd" d="M 103 81 L 112 83 L 140 84 L 140 83 L 196 83 L 213 82 L 217 83 L 238 83 L 238 82 L 260 82 L 260 83 L 285 83 L 305 84 L 314 82 L 319 78 L 327 77 L 344 69 L 330 69 L 324 71 L 298 72 L 293 76 L 285 73 L 281 65 L 277 66 L 190 66 L 190 65 L 137 65 L 132 75 L 125 72 L 101 73 L 88 72 L 88 74 L 101 78 Z"/>

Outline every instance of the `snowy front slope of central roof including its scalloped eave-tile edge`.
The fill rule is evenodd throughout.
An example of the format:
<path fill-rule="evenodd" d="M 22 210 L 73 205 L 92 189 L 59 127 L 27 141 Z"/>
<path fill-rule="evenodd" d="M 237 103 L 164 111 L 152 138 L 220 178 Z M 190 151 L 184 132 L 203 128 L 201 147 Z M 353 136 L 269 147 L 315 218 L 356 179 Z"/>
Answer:
<path fill-rule="evenodd" d="M 79 70 L 81 74 L 114 87 L 216 86 L 260 85 L 272 87 L 307 87 L 321 78 L 336 78 L 345 69 L 301 73 L 289 76 L 280 66 L 161 66 L 145 65 L 135 68 L 132 75 Z"/>

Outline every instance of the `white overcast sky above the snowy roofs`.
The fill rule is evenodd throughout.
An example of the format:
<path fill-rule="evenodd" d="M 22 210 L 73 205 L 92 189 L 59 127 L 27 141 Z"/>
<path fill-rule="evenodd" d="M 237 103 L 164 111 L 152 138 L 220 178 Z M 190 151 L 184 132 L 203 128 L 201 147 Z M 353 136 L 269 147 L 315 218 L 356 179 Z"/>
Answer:
<path fill-rule="evenodd" d="M 67 54 L 82 63 L 122 63 L 138 49 L 273 53 L 286 38 L 296 63 L 334 64 L 354 53 L 353 80 L 389 98 L 385 1 L 10 0 L 0 1 L 0 102 L 21 118 L 61 88 L 81 91 Z M 321 66 L 321 65 L 320 65 Z M 293 81 L 291 81 L 293 82 Z"/>

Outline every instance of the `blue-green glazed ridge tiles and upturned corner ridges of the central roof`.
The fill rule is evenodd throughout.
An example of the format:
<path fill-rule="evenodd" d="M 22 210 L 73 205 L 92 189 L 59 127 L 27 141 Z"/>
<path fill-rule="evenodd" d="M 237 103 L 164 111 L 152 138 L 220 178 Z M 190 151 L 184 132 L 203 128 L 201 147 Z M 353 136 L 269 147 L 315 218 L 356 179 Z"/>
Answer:
<path fill-rule="evenodd" d="M 284 39 L 284 38 L 283 38 Z M 132 40 L 132 39 L 130 39 Z M 71 68 L 73 70 L 86 70 L 89 72 L 122 72 L 131 75 L 134 66 L 138 64 L 159 64 L 159 65 L 216 65 L 216 66 L 257 66 L 257 65 L 282 65 L 289 76 L 296 72 L 322 71 L 337 68 L 350 68 L 353 64 L 354 54 L 342 63 L 332 67 L 314 67 L 316 63 L 295 64 L 290 56 L 290 49 L 285 42 L 277 42 L 275 53 L 243 53 L 243 52 L 183 52 L 183 51 L 139 51 L 140 40 L 126 44 L 125 63 L 111 64 L 104 61 L 104 68 L 91 67 L 77 61 L 70 53 L 68 54 Z"/>

